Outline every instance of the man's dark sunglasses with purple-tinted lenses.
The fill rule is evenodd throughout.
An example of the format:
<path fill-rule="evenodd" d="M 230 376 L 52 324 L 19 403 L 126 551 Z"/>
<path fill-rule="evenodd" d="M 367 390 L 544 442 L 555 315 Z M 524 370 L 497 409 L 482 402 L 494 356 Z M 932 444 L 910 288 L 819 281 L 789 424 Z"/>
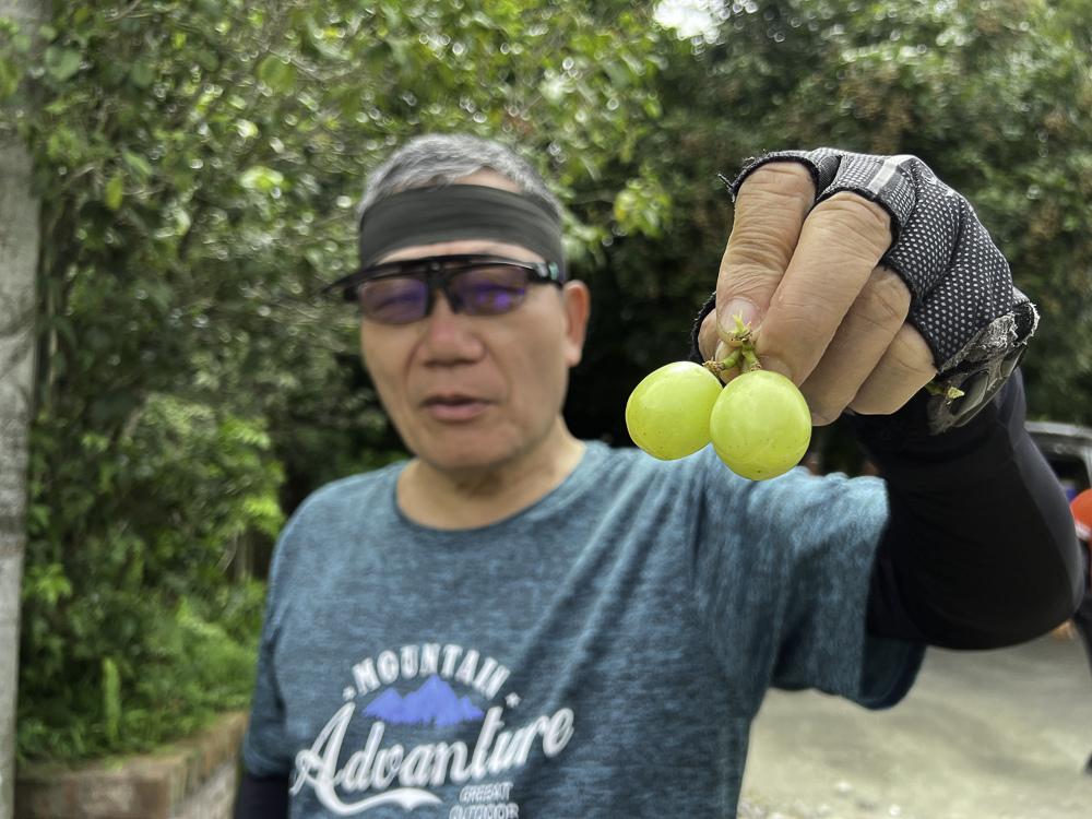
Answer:
<path fill-rule="evenodd" d="M 452 311 L 500 316 L 524 302 L 531 284 L 565 282 L 554 262 L 521 262 L 496 256 L 434 256 L 376 264 L 351 273 L 325 288 L 341 290 L 379 324 L 408 324 L 432 311 L 436 292 Z"/>

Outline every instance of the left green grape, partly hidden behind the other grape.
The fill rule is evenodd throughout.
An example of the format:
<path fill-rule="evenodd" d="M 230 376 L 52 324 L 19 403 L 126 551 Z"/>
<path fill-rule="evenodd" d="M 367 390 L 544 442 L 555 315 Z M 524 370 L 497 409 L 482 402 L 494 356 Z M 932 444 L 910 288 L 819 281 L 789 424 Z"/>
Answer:
<path fill-rule="evenodd" d="M 661 461 L 692 455 L 709 443 L 709 414 L 721 387 L 716 376 L 692 361 L 650 372 L 626 402 L 633 443 Z"/>

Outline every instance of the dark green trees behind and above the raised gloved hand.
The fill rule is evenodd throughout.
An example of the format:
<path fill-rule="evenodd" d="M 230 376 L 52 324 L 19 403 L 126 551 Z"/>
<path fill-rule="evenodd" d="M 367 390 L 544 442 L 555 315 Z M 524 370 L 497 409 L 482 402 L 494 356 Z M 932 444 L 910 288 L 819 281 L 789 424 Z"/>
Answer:
<path fill-rule="evenodd" d="M 727 3 L 708 41 L 667 56 L 664 117 L 638 146 L 670 193 L 669 239 L 632 236 L 593 273 L 595 396 L 582 431 L 617 422 L 628 391 L 686 346 L 732 224 L 749 156 L 834 145 L 916 154 L 966 195 L 1043 320 L 1024 363 L 1030 413 L 1092 423 L 1092 49 L 1089 3 L 1040 0 Z M 613 424 L 610 427 L 604 425 Z"/>

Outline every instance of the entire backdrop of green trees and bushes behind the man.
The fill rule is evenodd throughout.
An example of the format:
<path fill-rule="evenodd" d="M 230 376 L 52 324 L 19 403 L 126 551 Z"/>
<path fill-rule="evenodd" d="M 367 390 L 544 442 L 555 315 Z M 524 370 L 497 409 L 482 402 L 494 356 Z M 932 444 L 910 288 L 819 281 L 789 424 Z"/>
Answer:
<path fill-rule="evenodd" d="M 17 756 L 139 751 L 244 708 L 277 531 L 405 458 L 351 306 L 369 168 L 463 131 L 531 159 L 593 294 L 573 431 L 688 353 L 767 150 L 922 157 L 1042 312 L 1029 415 L 1092 425 L 1089 0 L 55 0 L 0 24 L 41 209 Z M 856 472 L 838 425 L 816 463 Z"/>

